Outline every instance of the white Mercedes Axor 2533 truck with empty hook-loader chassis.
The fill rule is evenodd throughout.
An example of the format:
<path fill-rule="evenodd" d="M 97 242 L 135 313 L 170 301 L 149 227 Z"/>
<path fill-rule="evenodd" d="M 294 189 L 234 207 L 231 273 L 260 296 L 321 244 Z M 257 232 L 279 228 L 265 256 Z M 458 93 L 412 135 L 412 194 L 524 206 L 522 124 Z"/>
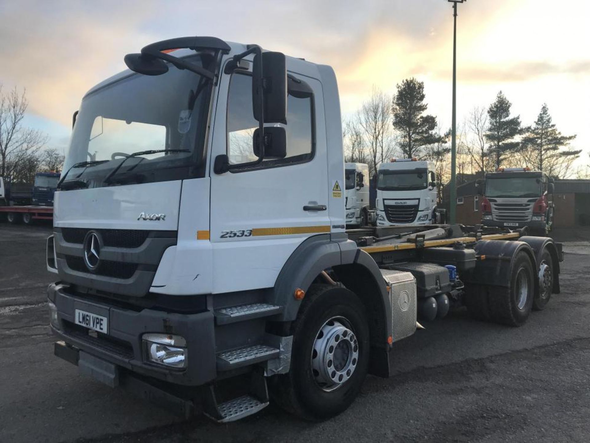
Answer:
<path fill-rule="evenodd" d="M 54 353 L 81 374 L 185 416 L 271 397 L 326 419 L 393 373 L 417 318 L 521 325 L 559 292 L 549 238 L 347 232 L 329 66 L 213 37 L 125 61 L 82 100 L 47 240 Z"/>

